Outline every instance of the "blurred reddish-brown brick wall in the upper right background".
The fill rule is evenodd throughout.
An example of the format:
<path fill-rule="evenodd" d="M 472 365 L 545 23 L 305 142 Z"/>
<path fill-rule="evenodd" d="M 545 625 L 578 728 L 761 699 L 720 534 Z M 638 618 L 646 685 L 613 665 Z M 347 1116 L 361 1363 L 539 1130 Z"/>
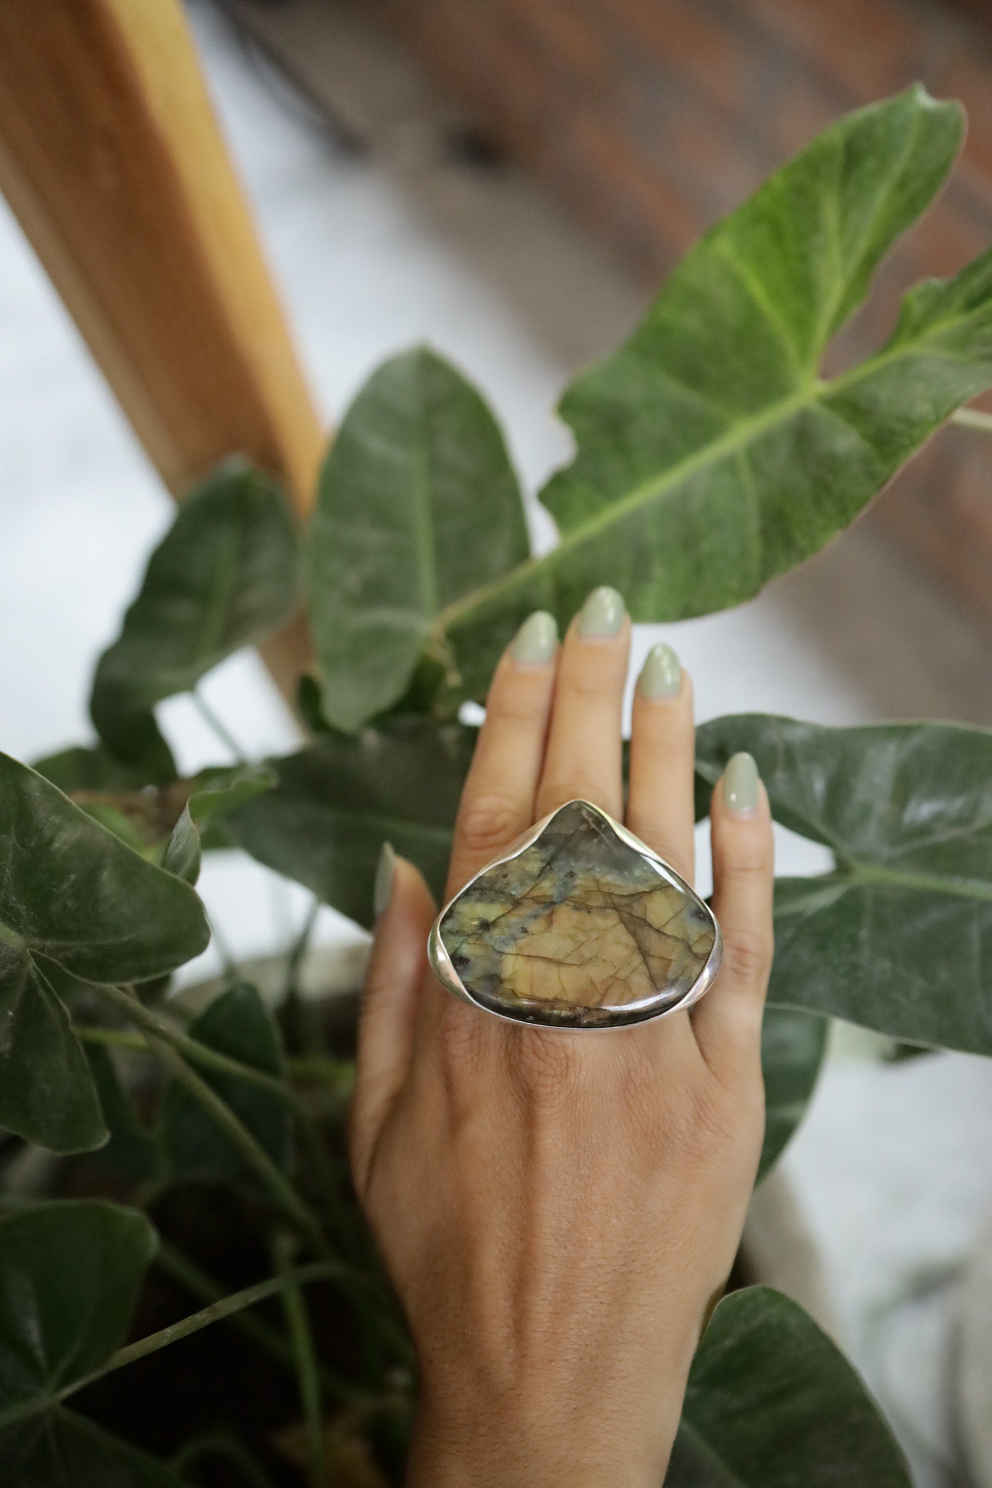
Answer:
<path fill-rule="evenodd" d="M 651 281 L 830 119 L 921 79 L 968 140 L 837 356 L 992 244 L 992 0 L 355 0 Z M 992 406 L 992 403 L 989 403 Z M 992 619 L 992 437 L 947 430 L 875 507 Z"/>

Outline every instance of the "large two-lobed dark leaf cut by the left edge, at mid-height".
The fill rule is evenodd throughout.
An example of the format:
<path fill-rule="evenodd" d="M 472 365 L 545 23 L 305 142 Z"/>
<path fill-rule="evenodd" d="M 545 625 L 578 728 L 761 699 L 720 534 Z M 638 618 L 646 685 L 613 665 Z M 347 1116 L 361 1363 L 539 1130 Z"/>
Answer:
<path fill-rule="evenodd" d="M 55 1152 L 107 1135 L 46 960 L 88 982 L 140 982 L 208 939 L 186 884 L 0 754 L 0 1125 Z"/>

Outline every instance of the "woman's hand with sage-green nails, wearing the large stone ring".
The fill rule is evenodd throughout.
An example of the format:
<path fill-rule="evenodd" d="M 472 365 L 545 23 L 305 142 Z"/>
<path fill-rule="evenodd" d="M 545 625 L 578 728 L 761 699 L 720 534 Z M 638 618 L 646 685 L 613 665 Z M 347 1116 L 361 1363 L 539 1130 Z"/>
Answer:
<path fill-rule="evenodd" d="M 631 626 L 595 591 L 504 655 L 466 783 L 454 894 L 576 796 L 623 815 Z M 750 756 L 712 799 L 724 958 L 692 1012 L 608 1033 L 491 1018 L 427 970 L 434 905 L 388 854 L 351 1158 L 421 1370 L 410 1488 L 659 1488 L 763 1131 L 772 827 Z M 641 674 L 626 823 L 693 878 L 692 684 Z"/>

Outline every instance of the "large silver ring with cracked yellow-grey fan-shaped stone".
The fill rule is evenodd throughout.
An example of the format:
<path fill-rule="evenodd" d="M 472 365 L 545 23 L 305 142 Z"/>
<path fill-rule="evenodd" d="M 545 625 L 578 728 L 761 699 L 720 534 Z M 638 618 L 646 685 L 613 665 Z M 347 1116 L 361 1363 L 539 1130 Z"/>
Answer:
<path fill-rule="evenodd" d="M 442 987 L 498 1018 L 622 1028 L 698 1001 L 723 936 L 657 853 L 570 801 L 445 905 L 428 955 Z"/>

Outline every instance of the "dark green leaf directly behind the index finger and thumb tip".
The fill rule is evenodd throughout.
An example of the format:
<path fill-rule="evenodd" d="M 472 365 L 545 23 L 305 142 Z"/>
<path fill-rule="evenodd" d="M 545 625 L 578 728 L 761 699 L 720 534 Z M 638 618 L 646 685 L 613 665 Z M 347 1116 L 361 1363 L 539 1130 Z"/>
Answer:
<path fill-rule="evenodd" d="M 436 897 L 443 893 L 474 741 L 474 729 L 412 717 L 360 735 L 327 735 L 272 762 L 280 784 L 229 818 L 231 836 L 260 863 L 370 926 L 384 842 L 421 869 Z"/>

